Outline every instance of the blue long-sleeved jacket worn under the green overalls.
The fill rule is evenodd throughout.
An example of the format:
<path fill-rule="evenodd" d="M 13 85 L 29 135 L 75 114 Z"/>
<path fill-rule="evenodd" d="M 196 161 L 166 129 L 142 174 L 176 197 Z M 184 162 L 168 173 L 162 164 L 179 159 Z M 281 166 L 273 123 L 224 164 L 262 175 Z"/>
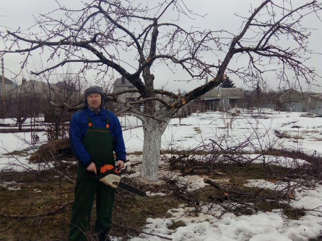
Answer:
<path fill-rule="evenodd" d="M 86 107 L 82 111 L 78 111 L 73 114 L 69 125 L 69 142 L 73 154 L 80 160 L 85 167 L 88 167 L 91 163 L 91 156 L 85 149 L 83 145 L 83 138 L 88 129 L 88 116 L 91 117 L 93 124 L 97 128 L 106 127 L 107 111 L 109 115 L 109 131 L 114 139 L 114 152 L 116 153 L 116 160 L 123 160 L 126 162 L 126 150 L 122 134 L 122 128 L 120 126 L 117 116 L 106 109 L 101 109 L 101 111 L 95 114 L 92 110 Z"/>

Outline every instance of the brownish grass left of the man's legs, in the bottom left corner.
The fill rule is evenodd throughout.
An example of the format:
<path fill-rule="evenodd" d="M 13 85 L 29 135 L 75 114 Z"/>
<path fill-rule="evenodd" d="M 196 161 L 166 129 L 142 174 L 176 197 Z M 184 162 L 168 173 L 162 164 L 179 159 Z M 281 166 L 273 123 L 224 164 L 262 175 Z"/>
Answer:
<path fill-rule="evenodd" d="M 53 178 L 53 175 L 37 177 L 34 173 L 19 173 L 9 176 L 20 186 L 20 190 L 10 191 L 1 187 L 1 213 L 19 215 L 21 218 L 0 217 L 0 240 L 51 240 L 66 237 L 71 207 L 52 216 L 27 218 L 29 215 L 46 213 L 57 204 L 72 200 L 73 185 Z M 14 179 L 14 180 L 12 180 Z M 38 192 L 41 191 L 41 192 Z"/>

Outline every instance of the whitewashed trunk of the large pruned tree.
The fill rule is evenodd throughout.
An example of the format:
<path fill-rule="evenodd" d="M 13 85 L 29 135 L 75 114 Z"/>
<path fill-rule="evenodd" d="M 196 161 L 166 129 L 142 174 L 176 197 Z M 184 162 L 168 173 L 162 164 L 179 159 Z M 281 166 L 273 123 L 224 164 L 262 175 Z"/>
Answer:
<path fill-rule="evenodd" d="M 158 180 L 158 162 L 160 159 L 161 137 L 170 119 L 162 125 L 157 120 L 146 118 L 143 123 L 144 143 L 141 177 L 156 182 Z"/>

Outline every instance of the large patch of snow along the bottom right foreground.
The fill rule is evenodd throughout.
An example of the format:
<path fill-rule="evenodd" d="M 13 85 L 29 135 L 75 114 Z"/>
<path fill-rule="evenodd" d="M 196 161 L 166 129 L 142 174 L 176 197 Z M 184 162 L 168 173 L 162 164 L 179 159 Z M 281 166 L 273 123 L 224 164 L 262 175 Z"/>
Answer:
<path fill-rule="evenodd" d="M 226 213 L 220 219 L 207 212 L 208 208 L 203 207 L 202 212 L 196 216 L 189 215 L 191 208 L 179 208 L 169 210 L 171 218 L 148 218 L 145 232 L 157 233 L 172 240 L 308 240 L 309 237 L 316 237 L 320 234 L 322 219 L 306 215 L 300 220 L 285 220 L 283 215 L 275 212 L 257 213 L 249 216 L 235 216 Z M 183 221 L 186 226 L 179 227 L 175 231 L 167 227 L 172 220 Z M 141 234 L 130 240 L 163 240 L 157 236 Z M 117 239 L 115 239 L 117 240 Z"/>

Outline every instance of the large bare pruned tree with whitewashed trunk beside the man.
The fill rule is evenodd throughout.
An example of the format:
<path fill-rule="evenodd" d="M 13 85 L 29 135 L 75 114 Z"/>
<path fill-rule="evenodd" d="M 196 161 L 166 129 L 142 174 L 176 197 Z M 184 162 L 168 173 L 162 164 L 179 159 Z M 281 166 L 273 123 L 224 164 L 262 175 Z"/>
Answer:
<path fill-rule="evenodd" d="M 171 117 L 185 104 L 219 86 L 225 73 L 234 73 L 249 82 L 263 79 L 262 74 L 268 71 L 266 64 L 274 63 L 277 66 L 272 71 L 280 81 L 290 82 L 290 71 L 297 80 L 305 79 L 310 83 L 315 79 L 314 71 L 305 65 L 305 54 L 310 53 L 307 46 L 309 31 L 301 26 L 301 20 L 320 10 L 321 4 L 316 1 L 292 6 L 291 1 L 265 0 L 251 9 L 249 17 L 243 17 L 240 32 L 232 34 L 225 30 L 186 30 L 176 20 L 166 21 L 168 12 L 175 12 L 178 18 L 196 17 L 182 1 L 165 0 L 154 7 L 142 7 L 136 1 L 93 0 L 75 10 L 59 5 L 57 11 L 36 18 L 36 26 L 41 29 L 39 33 L 32 29 L 1 32 L 6 47 L 0 55 L 25 54 L 24 65 L 30 53 L 49 51 L 54 64 L 33 74 L 52 71 L 67 63 L 82 63 L 80 71 L 83 72 L 94 69 L 104 74 L 113 69 L 126 77 L 141 97 L 132 102 L 117 95 L 109 98 L 124 101 L 127 104 L 124 110 L 131 110 L 142 120 L 141 176 L 156 181 L 161 137 Z M 61 18 L 57 17 L 58 12 L 62 12 Z M 287 45 L 280 41 L 285 38 Z M 212 61 L 218 64 L 203 60 L 206 53 L 215 53 L 214 58 L 221 56 Z M 124 56 L 130 54 L 136 62 L 127 62 L 131 58 Z M 248 57 L 245 66 L 240 63 L 236 69 L 228 67 L 233 58 L 242 55 Z M 211 80 L 184 96 L 157 90 L 154 81 L 162 77 L 154 76 L 152 67 L 159 63 L 165 63 L 170 71 L 177 71 L 180 66 L 192 79 L 210 76 Z M 164 102 L 158 95 L 169 96 L 173 103 Z M 157 101 L 164 107 L 156 109 Z M 131 108 L 132 104 L 138 103 L 144 103 L 144 113 Z"/>

